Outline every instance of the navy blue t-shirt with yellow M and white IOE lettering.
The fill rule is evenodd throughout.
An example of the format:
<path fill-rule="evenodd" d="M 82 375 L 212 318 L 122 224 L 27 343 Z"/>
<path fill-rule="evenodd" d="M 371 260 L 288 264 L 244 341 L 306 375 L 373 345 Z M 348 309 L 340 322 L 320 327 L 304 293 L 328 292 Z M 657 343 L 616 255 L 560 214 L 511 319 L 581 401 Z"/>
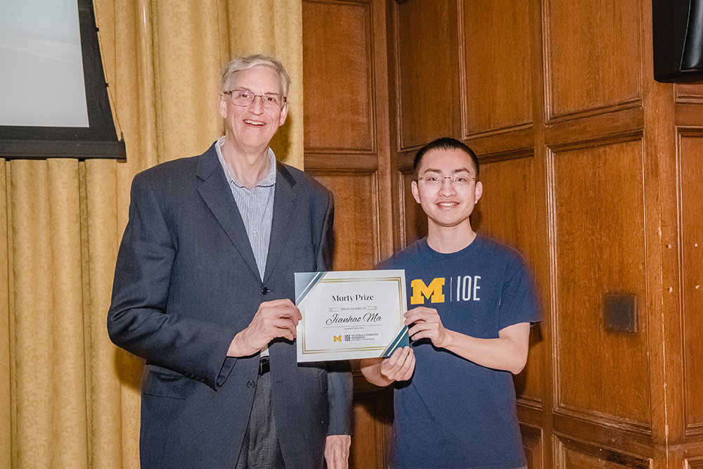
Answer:
<path fill-rule="evenodd" d="M 408 309 L 437 309 L 449 330 L 475 338 L 540 320 L 534 281 L 517 251 L 477 235 L 436 252 L 423 238 L 379 264 L 405 269 Z M 411 343 L 415 372 L 396 383 L 396 468 L 518 468 L 525 464 L 509 371 L 479 366 L 427 339 Z"/>

